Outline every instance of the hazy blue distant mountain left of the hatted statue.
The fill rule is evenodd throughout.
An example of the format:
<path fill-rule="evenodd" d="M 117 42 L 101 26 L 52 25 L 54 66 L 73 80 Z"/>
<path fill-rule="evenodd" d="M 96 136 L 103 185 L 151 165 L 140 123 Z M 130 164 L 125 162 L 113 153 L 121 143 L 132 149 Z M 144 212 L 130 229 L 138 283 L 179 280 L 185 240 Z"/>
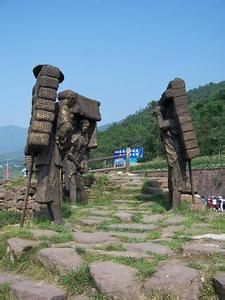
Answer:
<path fill-rule="evenodd" d="M 0 155 L 21 152 L 27 138 L 27 128 L 8 125 L 0 126 Z"/>

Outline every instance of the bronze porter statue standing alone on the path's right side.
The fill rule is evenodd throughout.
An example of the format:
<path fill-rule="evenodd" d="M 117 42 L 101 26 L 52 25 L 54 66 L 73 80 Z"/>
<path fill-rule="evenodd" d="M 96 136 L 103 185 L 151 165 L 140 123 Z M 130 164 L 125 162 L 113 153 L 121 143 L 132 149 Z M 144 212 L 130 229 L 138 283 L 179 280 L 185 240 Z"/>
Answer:
<path fill-rule="evenodd" d="M 185 82 L 182 79 L 170 81 L 154 109 L 154 114 L 167 157 L 168 208 L 178 208 L 181 194 L 190 192 L 187 186 L 187 162 L 193 194 L 191 159 L 199 155 L 192 119 L 188 112 Z"/>

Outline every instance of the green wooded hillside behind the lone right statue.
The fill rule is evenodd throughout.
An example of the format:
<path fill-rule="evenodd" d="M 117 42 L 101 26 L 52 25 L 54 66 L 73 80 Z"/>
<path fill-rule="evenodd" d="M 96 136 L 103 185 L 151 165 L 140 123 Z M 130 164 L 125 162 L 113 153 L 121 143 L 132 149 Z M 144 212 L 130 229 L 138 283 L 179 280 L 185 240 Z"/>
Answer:
<path fill-rule="evenodd" d="M 201 155 L 225 153 L 225 81 L 209 83 L 187 94 Z M 144 147 L 144 161 L 163 156 L 158 126 L 152 115 L 155 103 L 151 101 L 121 123 L 99 132 L 98 148 L 92 151 L 92 157 L 110 155 L 113 149 L 128 144 Z"/>

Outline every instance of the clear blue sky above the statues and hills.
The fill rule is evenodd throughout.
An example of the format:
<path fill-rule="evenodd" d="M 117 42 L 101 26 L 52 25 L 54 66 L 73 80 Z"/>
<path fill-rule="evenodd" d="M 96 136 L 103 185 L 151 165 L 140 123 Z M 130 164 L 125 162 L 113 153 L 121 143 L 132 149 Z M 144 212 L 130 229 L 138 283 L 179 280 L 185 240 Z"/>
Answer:
<path fill-rule="evenodd" d="M 0 0 L 0 126 L 28 127 L 32 69 L 58 66 L 59 91 L 101 101 L 101 124 L 225 80 L 224 0 Z"/>

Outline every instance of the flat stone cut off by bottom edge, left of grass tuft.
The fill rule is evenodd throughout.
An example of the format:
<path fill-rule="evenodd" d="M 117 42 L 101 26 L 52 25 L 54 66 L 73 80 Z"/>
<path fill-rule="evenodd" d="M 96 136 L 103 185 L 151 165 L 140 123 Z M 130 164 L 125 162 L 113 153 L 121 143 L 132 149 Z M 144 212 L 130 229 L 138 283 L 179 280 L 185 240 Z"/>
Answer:
<path fill-rule="evenodd" d="M 12 296 L 18 300 L 67 300 L 64 290 L 43 282 L 18 281 L 12 284 L 11 290 Z"/>

